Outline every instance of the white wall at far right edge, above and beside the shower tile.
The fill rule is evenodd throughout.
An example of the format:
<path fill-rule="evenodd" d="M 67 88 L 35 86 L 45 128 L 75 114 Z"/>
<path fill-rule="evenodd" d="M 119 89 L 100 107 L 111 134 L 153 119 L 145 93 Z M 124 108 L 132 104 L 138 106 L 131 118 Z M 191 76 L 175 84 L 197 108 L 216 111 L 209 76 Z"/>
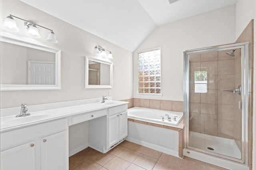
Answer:
<path fill-rule="evenodd" d="M 236 39 L 240 36 L 250 20 L 254 19 L 254 67 L 256 66 L 256 1 L 255 0 L 237 0 L 236 2 Z M 252 122 L 252 169 L 256 170 L 256 69 L 253 71 L 253 122 Z"/>

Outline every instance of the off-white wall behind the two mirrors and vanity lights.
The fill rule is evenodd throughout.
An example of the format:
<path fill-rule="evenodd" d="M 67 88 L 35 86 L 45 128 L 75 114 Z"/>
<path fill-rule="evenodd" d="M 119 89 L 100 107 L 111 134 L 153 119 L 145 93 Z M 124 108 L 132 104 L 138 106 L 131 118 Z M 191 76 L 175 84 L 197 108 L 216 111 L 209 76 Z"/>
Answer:
<path fill-rule="evenodd" d="M 45 12 L 37 10 L 19 0 L 0 1 L 0 23 L 9 14 L 38 25 L 53 29 L 58 43 L 48 43 L 48 30 L 38 28 L 41 38 L 33 39 L 26 36 L 26 28 L 22 20 L 16 20 L 20 32 L 6 32 L 1 28 L 1 35 L 20 40 L 38 43 L 62 50 L 62 88 L 61 90 L 44 91 L 1 91 L 0 107 L 18 107 L 26 102 L 28 105 L 90 99 L 108 95 L 109 89 L 85 89 L 85 56 L 92 56 L 95 45 L 109 49 L 113 54 L 113 100 L 132 98 L 132 52 L 123 49 L 102 38 L 94 36 L 80 28 L 72 26 Z M 85 16 L 86 17 L 86 16 Z M 120 93 L 122 91 L 122 93 Z"/>

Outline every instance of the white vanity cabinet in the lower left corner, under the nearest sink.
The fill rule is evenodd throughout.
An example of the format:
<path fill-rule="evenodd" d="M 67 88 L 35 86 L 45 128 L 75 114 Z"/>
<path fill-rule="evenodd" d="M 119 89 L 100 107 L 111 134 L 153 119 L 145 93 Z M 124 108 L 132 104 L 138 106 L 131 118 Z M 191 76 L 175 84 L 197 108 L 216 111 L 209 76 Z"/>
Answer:
<path fill-rule="evenodd" d="M 1 170 L 68 170 L 68 121 L 0 134 Z"/>

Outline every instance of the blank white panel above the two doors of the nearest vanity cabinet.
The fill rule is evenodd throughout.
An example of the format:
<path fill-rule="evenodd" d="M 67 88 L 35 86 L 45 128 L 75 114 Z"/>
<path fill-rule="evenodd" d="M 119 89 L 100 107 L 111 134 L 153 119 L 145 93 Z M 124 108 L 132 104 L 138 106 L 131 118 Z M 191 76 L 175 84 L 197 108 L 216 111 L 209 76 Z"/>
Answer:
<path fill-rule="evenodd" d="M 57 121 L 51 121 L 39 125 L 34 125 L 31 127 L 25 127 L 1 133 L 1 151 L 9 147 L 23 144 L 24 142 L 27 142 L 29 140 L 34 140 L 35 138 L 38 138 L 40 136 L 46 136 L 49 134 L 54 134 L 57 132 L 67 130 L 67 128 L 68 121 L 65 118 Z"/>

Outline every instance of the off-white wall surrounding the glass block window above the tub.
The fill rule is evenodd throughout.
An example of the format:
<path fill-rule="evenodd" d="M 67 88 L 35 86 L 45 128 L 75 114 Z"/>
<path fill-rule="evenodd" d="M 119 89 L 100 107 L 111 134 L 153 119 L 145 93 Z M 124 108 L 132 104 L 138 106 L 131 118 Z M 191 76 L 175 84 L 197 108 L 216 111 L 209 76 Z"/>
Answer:
<path fill-rule="evenodd" d="M 161 47 L 161 99 L 183 101 L 183 51 L 234 43 L 235 12 L 235 5 L 227 6 L 156 28 L 133 53 L 134 98 L 142 98 L 136 97 L 137 52 Z"/>

